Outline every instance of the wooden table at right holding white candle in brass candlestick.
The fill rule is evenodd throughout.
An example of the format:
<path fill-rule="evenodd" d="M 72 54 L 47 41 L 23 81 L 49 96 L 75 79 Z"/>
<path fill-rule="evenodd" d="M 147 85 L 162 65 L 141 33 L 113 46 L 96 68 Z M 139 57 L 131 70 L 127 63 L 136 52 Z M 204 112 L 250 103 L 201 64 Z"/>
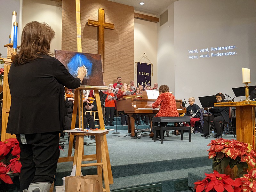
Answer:
<path fill-rule="evenodd" d="M 236 140 L 255 146 L 256 101 L 214 103 L 214 107 L 236 107 Z"/>

